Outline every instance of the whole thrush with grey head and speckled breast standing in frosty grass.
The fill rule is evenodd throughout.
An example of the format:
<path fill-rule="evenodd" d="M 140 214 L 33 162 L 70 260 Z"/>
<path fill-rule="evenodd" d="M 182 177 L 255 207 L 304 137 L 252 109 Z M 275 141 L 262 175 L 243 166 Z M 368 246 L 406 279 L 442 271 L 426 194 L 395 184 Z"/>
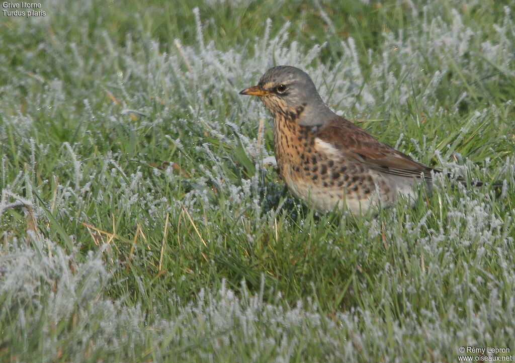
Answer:
<path fill-rule="evenodd" d="M 239 94 L 258 96 L 270 111 L 279 174 L 293 195 L 318 211 L 363 214 L 391 206 L 399 196 L 413 205 L 414 186 L 425 184 L 431 193 L 434 175 L 441 173 L 334 113 L 297 67 L 272 67 Z"/>

